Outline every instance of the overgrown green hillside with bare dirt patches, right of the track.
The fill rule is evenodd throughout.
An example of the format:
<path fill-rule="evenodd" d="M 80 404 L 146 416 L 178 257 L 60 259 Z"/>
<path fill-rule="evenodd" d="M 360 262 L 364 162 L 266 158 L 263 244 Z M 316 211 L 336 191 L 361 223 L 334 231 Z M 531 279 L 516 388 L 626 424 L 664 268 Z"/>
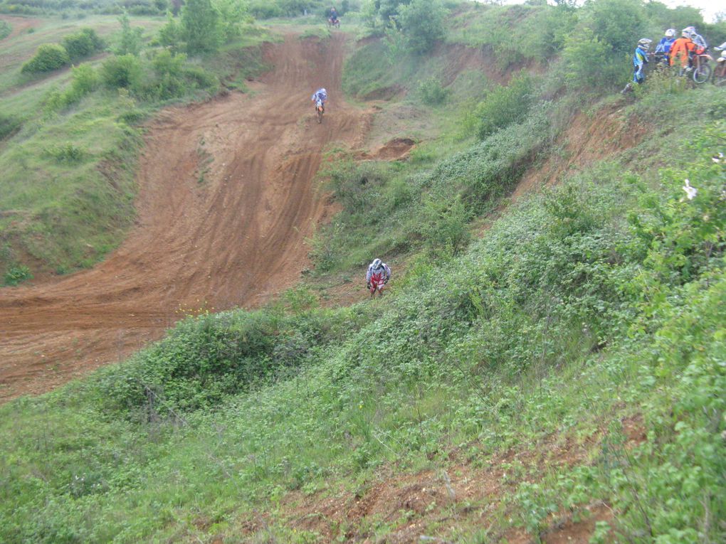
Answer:
<path fill-rule="evenodd" d="M 467 8 L 465 28 L 479 9 L 505 28 L 558 14 Z M 586 67 L 556 51 L 550 70 L 510 74 L 494 49 L 484 75 L 476 55 L 447 70 L 466 51 L 448 36 L 370 73 L 395 40 L 351 55 L 351 96 L 390 98 L 372 137 L 420 143 L 407 161 L 331 150 L 341 212 L 309 287 L 0 407 L 0 540 L 722 539 L 722 90 L 653 77 L 622 96 L 613 63 L 566 91 Z M 513 202 L 530 176 L 542 190 Z M 372 255 L 388 297 L 321 308 L 316 282 Z"/>

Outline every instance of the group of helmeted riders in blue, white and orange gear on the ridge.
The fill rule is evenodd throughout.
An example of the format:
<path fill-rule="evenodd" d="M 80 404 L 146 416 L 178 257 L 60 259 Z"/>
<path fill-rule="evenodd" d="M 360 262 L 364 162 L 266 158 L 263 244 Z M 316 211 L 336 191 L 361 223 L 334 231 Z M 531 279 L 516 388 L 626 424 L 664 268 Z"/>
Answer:
<path fill-rule="evenodd" d="M 653 40 L 648 38 L 641 38 L 635 47 L 635 54 L 633 54 L 633 83 L 643 83 L 645 81 L 643 70 L 645 65 L 648 64 L 650 44 L 652 42 Z M 657 61 L 663 62 L 664 65 L 680 65 L 683 72 L 690 72 L 693 69 L 693 57 L 703 54 L 708 48 L 709 44 L 696 31 L 695 27 L 689 26 L 681 30 L 680 38 L 676 38 L 674 28 L 669 28 L 661 41 L 658 42 L 654 55 Z M 715 49 L 722 51 L 721 57 L 726 60 L 726 51 L 724 51 L 726 42 Z M 723 61 L 719 59 L 719 62 Z"/>

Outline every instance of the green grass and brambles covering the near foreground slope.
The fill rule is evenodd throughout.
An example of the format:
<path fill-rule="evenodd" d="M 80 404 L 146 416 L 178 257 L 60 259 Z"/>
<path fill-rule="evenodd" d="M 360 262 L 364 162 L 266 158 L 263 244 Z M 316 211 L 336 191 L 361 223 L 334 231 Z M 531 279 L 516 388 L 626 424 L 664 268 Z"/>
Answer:
<path fill-rule="evenodd" d="M 702 210 L 726 172 L 706 160 L 657 191 L 599 165 L 514 207 L 460 259 L 420 262 L 383 302 L 319 310 L 301 291 L 200 316 L 129 363 L 0 408 L 0 535 L 205 540 L 233 537 L 257 510 L 258 537 L 304 542 L 293 491 L 365 496 L 390 471 L 454 474 L 574 440 L 587 448 L 574 466 L 502 467 L 491 530 L 537 535 L 550 513 L 606 500 L 624 537 L 647 519 L 661 541 L 691 541 L 706 506 L 723 514 L 723 241 L 714 252 L 701 236 L 724 221 Z M 680 202 L 682 175 L 703 201 Z M 653 440 L 627 443 L 620 421 L 634 414 Z M 421 519 L 425 534 L 473 541 L 484 505 L 458 508 L 453 527 L 434 506 L 348 531 Z"/>

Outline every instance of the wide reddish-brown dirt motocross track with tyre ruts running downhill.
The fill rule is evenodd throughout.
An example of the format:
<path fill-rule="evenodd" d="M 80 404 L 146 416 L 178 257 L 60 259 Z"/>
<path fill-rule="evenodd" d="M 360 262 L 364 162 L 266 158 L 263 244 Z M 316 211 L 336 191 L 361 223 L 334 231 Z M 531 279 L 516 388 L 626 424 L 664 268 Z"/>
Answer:
<path fill-rule="evenodd" d="M 0 290 L 0 400 L 38 393 L 158 339 L 183 308 L 256 306 L 306 268 L 329 215 L 313 178 L 333 141 L 360 145 L 369 114 L 340 99 L 344 38 L 287 36 L 251 94 L 166 110 L 139 165 L 138 218 L 96 268 Z M 310 95 L 330 95 L 322 125 Z"/>

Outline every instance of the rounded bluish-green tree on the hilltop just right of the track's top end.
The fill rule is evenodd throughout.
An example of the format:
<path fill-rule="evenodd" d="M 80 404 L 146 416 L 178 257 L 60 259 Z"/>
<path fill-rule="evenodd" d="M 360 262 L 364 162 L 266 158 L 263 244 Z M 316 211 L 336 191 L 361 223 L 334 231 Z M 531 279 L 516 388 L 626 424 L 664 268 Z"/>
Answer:
<path fill-rule="evenodd" d="M 440 0 L 412 0 L 401 4 L 396 17 L 410 51 L 423 54 L 433 49 L 444 37 L 444 21 L 448 10 Z"/>

